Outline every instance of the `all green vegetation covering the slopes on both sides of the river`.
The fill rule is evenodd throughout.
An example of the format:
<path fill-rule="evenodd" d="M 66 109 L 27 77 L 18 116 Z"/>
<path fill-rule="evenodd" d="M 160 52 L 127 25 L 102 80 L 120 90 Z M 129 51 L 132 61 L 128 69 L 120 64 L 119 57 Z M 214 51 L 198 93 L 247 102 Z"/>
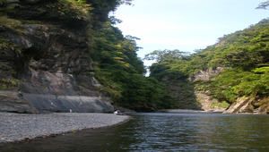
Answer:
<path fill-rule="evenodd" d="M 52 24 L 63 32 L 67 29 L 75 31 L 76 35 L 86 38 L 89 45 L 86 46 L 89 48 L 87 54 L 91 56 L 89 60 L 93 61 L 95 77 L 101 84 L 98 90 L 111 97 L 117 106 L 136 111 L 156 108 L 199 109 L 195 90 L 220 101 L 212 106 L 228 106 L 227 103 L 232 104 L 239 97 L 254 97 L 253 107 L 268 105 L 268 19 L 245 30 L 224 35 L 218 38 L 218 43 L 196 50 L 195 54 L 177 49 L 153 51 L 145 55 L 144 59 L 156 60 L 157 63 L 150 67 L 150 77 L 145 77 L 143 60 L 136 54 L 140 47 L 135 40 L 139 38 L 124 37 L 113 26 L 120 21 L 113 16 L 108 18 L 108 13 L 117 10 L 117 6 L 131 2 L 132 0 L 35 0 L 11 4 L 0 0 L 0 32 L 27 35 L 29 33 L 25 32 L 25 25 L 45 23 Z M 267 9 L 268 5 L 267 1 L 257 8 Z M 20 85 L 20 80 L 17 80 L 20 69 L 6 59 L 21 56 L 25 50 L 12 44 L 4 35 L 0 35 L 0 38 L 0 69 L 3 77 L 0 88 L 13 89 Z M 197 72 L 218 67 L 223 67 L 224 70 L 211 79 L 189 79 Z M 90 75 L 92 74 L 93 72 Z"/>

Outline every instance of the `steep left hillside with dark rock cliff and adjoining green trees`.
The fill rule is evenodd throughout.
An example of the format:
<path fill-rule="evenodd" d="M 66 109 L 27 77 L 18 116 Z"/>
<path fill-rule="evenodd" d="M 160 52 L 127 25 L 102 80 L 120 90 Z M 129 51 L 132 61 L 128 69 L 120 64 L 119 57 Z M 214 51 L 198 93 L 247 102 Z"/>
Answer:
<path fill-rule="evenodd" d="M 0 111 L 152 111 L 169 100 L 143 76 L 132 36 L 108 13 L 132 0 L 0 0 Z"/>

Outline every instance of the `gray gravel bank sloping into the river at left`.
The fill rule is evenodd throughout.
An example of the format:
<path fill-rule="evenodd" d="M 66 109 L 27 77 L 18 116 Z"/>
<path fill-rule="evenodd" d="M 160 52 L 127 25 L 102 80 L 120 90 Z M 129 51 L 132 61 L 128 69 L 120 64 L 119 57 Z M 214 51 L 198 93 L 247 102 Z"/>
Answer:
<path fill-rule="evenodd" d="M 0 143 L 105 127 L 124 122 L 128 118 L 126 115 L 96 113 L 0 113 Z"/>

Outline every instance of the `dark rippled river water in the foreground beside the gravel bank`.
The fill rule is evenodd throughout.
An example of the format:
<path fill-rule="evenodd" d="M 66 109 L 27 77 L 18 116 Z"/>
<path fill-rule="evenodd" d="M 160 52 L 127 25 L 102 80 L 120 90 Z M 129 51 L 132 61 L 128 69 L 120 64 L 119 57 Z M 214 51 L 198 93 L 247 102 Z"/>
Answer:
<path fill-rule="evenodd" d="M 134 114 L 120 125 L 0 146 L 0 151 L 269 151 L 269 115 Z"/>

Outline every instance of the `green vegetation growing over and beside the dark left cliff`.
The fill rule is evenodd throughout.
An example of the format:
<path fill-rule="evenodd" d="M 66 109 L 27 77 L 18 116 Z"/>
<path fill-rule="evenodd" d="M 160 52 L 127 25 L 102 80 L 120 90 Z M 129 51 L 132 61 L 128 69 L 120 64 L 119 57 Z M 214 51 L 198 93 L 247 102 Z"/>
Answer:
<path fill-rule="evenodd" d="M 37 0 L 16 1 L 13 7 L 9 7 L 10 3 L 7 1 L 0 1 L 3 6 L 0 9 L 0 31 L 5 34 L 8 31 L 27 36 L 29 33 L 25 32 L 25 26 L 45 23 L 55 27 L 49 26 L 47 30 L 62 31 L 60 35 L 67 33 L 67 30 L 70 34 L 75 31 L 75 35 L 82 37 L 78 43 L 87 38 L 88 55 L 83 55 L 92 60 L 94 66 L 94 72 L 83 72 L 83 74 L 92 76 L 95 73 L 95 78 L 101 84 L 98 90 L 111 97 L 115 105 L 136 111 L 170 107 L 171 97 L 167 95 L 164 85 L 154 78 L 144 76 L 146 71 L 143 61 L 136 55 L 139 46 L 136 46 L 135 40 L 138 38 L 124 37 L 120 30 L 113 27 L 113 24 L 119 20 L 115 17 L 108 18 L 108 13 L 115 11 L 118 5 L 131 4 L 131 2 L 132 0 Z M 24 55 L 27 53 L 27 58 L 24 57 L 23 60 L 29 60 L 30 55 L 36 54 L 32 52 L 34 49 L 13 45 L 10 40 L 4 39 L 4 35 L 0 38 L 3 54 L 7 51 L 14 55 L 27 56 Z M 34 70 L 38 70 L 36 69 L 39 68 L 38 66 L 32 65 L 35 67 Z M 61 66 L 63 70 L 67 65 L 68 63 L 65 63 Z M 16 65 L 9 67 L 9 72 L 4 72 L 6 78 L 0 80 L 2 89 L 8 88 L 7 83 L 11 83 L 10 86 L 14 85 L 13 82 L 19 85 L 19 81 L 10 79 L 18 78 Z M 80 85 L 83 88 L 88 86 L 83 82 L 80 82 Z M 43 89 L 47 89 L 46 85 Z"/>

